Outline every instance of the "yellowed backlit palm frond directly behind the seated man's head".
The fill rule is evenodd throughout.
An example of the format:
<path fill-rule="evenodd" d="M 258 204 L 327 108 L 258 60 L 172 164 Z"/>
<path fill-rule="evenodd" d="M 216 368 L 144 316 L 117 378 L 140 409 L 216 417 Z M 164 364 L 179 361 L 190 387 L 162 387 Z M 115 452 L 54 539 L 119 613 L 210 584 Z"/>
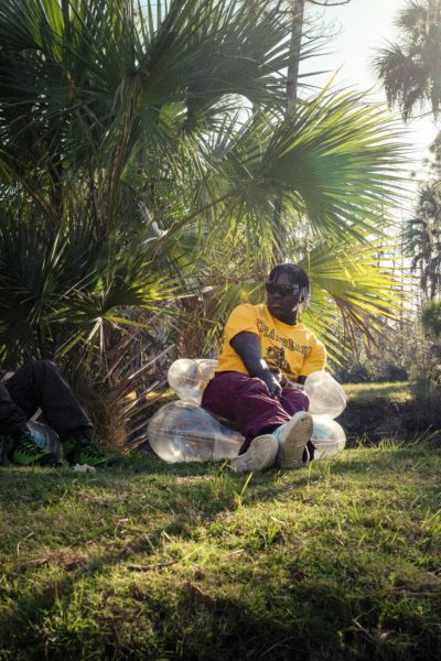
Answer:
<path fill-rule="evenodd" d="M 406 288 L 401 273 L 399 278 L 392 274 L 391 252 L 390 242 L 352 243 L 351 250 L 338 242 L 322 242 L 299 261 L 312 286 L 310 307 L 301 318 L 325 343 L 332 362 L 338 362 L 355 334 L 362 333 L 375 343 L 378 334 L 399 318 Z M 205 350 L 211 354 L 219 348 L 219 329 L 232 310 L 240 303 L 265 300 L 263 273 L 258 279 L 238 280 L 237 275 L 229 273 L 223 284 L 214 285 L 206 294 L 213 326 Z"/>

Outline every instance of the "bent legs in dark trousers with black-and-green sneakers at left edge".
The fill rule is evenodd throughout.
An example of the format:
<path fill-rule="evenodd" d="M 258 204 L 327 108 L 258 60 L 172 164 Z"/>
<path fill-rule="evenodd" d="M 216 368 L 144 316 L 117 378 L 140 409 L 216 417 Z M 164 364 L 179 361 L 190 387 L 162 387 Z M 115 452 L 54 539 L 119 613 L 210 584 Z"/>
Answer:
<path fill-rule="evenodd" d="M 107 463 L 108 457 L 92 440 L 90 420 L 51 360 L 31 362 L 0 382 L 0 442 L 12 463 L 22 466 L 62 463 L 32 438 L 26 426 L 39 409 L 58 434 L 69 464 Z"/>

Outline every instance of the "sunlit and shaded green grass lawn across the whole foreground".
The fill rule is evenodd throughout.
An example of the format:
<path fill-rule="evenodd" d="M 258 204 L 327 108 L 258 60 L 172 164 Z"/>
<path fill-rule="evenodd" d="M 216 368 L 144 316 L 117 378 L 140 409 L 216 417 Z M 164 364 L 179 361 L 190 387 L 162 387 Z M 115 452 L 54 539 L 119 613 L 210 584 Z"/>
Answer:
<path fill-rule="evenodd" d="M 441 453 L 6 467 L 0 659 L 440 659 Z"/>

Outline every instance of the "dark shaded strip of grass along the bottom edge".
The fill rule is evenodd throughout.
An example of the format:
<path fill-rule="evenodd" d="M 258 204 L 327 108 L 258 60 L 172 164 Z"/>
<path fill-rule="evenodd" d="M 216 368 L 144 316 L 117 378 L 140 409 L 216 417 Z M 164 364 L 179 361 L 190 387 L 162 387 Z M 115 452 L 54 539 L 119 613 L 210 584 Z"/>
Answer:
<path fill-rule="evenodd" d="M 181 581 L 173 598 L 170 590 L 133 583 L 115 604 L 111 590 L 104 595 L 109 599 L 101 616 L 95 615 L 98 627 L 88 620 L 92 605 L 78 600 L 82 579 L 71 577 L 46 586 L 41 595 L 22 596 L 17 603 L 20 617 L 7 622 L 1 638 L 20 659 L 53 661 L 439 658 L 435 627 L 410 608 L 400 611 L 398 599 L 387 605 L 383 597 L 359 594 L 351 583 L 332 583 L 324 573 L 301 585 L 298 575 L 295 584 L 277 592 L 255 583 L 244 594 L 226 597 L 213 595 L 197 581 Z M 17 635 L 19 627 L 25 637 Z"/>

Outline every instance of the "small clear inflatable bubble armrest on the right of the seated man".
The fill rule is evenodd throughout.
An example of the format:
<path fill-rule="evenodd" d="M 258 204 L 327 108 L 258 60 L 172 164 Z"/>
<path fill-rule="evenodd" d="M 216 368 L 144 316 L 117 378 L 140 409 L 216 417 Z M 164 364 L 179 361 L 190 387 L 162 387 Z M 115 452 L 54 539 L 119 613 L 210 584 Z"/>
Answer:
<path fill-rule="evenodd" d="M 346 395 L 340 383 L 326 371 L 312 372 L 304 382 L 310 398 L 310 413 L 337 418 L 346 408 Z"/>

